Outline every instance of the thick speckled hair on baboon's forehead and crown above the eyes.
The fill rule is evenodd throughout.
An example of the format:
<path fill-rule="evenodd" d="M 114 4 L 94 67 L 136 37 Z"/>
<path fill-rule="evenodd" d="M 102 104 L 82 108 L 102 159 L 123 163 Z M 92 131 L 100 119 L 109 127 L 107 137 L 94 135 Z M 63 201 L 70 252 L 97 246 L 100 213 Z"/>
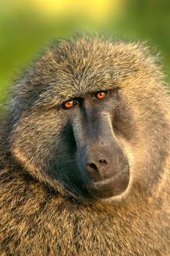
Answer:
<path fill-rule="evenodd" d="M 156 73 L 154 59 L 139 43 L 115 43 L 98 37 L 59 40 L 35 61 L 25 91 L 27 95 L 37 91 L 36 104 L 58 104 L 121 87 L 128 77 L 151 76 L 153 69 Z"/>

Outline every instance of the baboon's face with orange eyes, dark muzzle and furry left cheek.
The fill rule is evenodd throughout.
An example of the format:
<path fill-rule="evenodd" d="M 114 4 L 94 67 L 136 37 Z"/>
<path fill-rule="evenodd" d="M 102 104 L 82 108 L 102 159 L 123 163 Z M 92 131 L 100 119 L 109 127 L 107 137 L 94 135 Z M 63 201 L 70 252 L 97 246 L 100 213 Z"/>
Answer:
<path fill-rule="evenodd" d="M 14 152 L 35 176 L 41 168 L 71 192 L 115 197 L 129 184 L 121 138 L 129 141 L 133 127 L 121 90 L 96 91 L 27 111 L 15 129 Z"/>

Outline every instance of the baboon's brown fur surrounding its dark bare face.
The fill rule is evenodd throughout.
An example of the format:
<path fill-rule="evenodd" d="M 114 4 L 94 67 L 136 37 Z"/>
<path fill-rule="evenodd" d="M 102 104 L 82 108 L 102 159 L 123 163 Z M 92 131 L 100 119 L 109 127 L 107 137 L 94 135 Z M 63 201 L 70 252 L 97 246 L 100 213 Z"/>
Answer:
<path fill-rule="evenodd" d="M 155 62 L 135 43 L 61 40 L 17 82 L 1 126 L 1 255 L 170 254 L 169 98 Z M 64 127 L 57 108 L 117 87 L 132 116 L 130 132 L 115 135 L 128 157 L 130 185 L 97 202 L 48 174 Z"/>

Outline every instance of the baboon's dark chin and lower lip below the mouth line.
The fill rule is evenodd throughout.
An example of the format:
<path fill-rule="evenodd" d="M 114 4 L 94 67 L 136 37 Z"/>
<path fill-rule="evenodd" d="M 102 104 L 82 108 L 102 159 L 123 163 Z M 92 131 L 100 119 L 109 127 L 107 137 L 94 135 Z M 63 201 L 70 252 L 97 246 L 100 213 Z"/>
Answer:
<path fill-rule="evenodd" d="M 94 199 L 107 199 L 121 195 L 128 188 L 129 171 L 122 171 L 116 176 L 102 182 L 91 182 L 88 187 L 89 194 Z"/>

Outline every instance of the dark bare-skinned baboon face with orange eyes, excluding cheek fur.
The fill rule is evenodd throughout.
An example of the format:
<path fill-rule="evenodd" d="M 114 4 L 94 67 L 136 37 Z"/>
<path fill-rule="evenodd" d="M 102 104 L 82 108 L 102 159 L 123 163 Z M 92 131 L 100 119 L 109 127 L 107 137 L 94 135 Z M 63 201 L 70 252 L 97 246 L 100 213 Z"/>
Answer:
<path fill-rule="evenodd" d="M 79 177 L 81 182 L 76 185 L 83 183 L 92 197 L 113 197 L 128 187 L 128 159 L 115 136 L 121 132 L 119 126 L 122 130 L 125 127 L 125 107 L 123 115 L 121 107 L 120 93 L 115 89 L 73 98 L 59 110 L 67 120 L 63 136 L 68 156 L 64 161 L 73 165 L 68 176 L 71 180 Z"/>

